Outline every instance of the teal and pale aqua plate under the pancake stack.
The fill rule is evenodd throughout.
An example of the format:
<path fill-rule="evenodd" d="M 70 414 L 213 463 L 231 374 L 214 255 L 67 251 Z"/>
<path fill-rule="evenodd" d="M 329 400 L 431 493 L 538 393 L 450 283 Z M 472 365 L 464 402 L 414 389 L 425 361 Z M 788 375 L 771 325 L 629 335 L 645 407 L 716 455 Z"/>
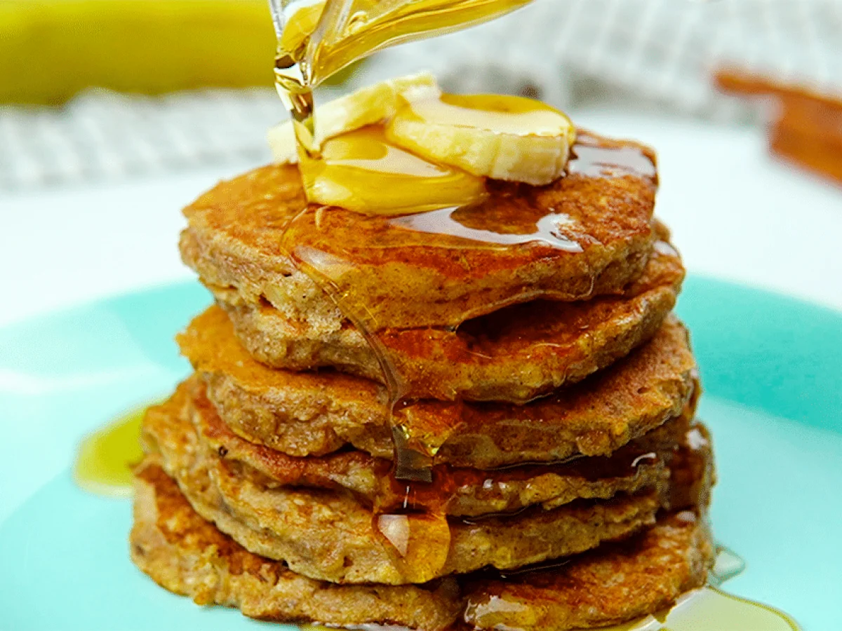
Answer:
<path fill-rule="evenodd" d="M 0 628 L 263 624 L 153 584 L 129 561 L 131 502 L 88 495 L 70 474 L 81 437 L 188 373 L 173 334 L 208 300 L 179 284 L 0 329 Z M 748 563 L 728 591 L 804 631 L 839 628 L 842 315 L 706 278 L 688 279 L 679 315 L 717 449 L 714 528 Z"/>

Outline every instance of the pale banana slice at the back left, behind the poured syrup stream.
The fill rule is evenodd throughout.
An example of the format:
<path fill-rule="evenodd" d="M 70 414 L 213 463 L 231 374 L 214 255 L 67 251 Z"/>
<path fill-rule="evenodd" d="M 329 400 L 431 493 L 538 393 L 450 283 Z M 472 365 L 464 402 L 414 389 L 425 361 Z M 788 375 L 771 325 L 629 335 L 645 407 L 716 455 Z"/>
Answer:
<path fill-rule="evenodd" d="M 316 145 L 321 146 L 328 138 L 347 131 L 359 130 L 365 125 L 390 119 L 402 103 L 438 98 L 440 93 L 435 77 L 429 72 L 422 72 L 375 83 L 320 105 L 316 109 Z M 398 98 L 402 101 L 398 101 Z M 269 148 L 274 162 L 278 164 L 298 162 L 296 135 L 291 121 L 275 125 L 269 130 Z"/>

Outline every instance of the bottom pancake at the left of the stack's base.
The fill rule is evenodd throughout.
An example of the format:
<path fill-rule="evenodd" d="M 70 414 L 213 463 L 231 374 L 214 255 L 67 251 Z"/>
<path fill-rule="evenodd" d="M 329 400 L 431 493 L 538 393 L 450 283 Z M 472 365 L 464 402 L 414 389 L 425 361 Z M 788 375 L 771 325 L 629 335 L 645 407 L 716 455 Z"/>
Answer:
<path fill-rule="evenodd" d="M 384 623 L 444 631 L 461 610 L 453 579 L 432 585 L 335 585 L 252 554 L 200 517 L 154 457 L 135 472 L 131 559 L 158 585 L 199 605 L 252 618 L 339 626 Z"/>

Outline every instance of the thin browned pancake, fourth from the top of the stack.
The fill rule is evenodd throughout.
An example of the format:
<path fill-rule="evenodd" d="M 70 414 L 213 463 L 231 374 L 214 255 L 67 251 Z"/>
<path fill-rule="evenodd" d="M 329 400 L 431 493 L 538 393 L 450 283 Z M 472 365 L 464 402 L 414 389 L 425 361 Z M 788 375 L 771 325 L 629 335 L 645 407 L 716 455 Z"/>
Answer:
<path fill-rule="evenodd" d="M 197 379 L 179 385 L 173 396 L 192 422 L 206 457 L 237 463 L 242 477 L 267 488 L 304 486 L 348 490 L 380 512 L 398 508 L 444 512 L 455 517 L 517 512 L 540 505 L 545 510 L 578 499 L 609 499 L 665 486 L 676 445 L 685 442 L 694 412 L 666 422 L 610 457 L 579 458 L 559 464 L 510 467 L 497 471 L 433 467 L 432 484 L 394 480 L 392 461 L 360 451 L 301 458 L 249 443 L 229 430 L 205 397 Z M 152 419 L 154 421 L 154 419 Z M 151 425 L 151 423 L 150 423 Z M 155 427 L 147 432 L 162 433 Z"/>

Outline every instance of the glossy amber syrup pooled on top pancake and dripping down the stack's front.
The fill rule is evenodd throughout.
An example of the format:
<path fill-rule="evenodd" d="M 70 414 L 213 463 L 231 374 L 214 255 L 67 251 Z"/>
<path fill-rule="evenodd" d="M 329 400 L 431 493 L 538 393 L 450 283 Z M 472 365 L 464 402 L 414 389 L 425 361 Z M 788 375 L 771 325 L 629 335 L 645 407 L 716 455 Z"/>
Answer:
<path fill-rule="evenodd" d="M 573 161 L 575 168 L 588 173 L 580 177 L 622 178 L 631 175 L 655 183 L 655 165 L 642 147 L 600 146 L 597 151 L 594 144 L 589 135 L 583 135 L 579 151 L 582 155 Z M 378 165 L 380 171 L 384 167 L 386 165 L 382 163 Z M 413 186 L 410 177 L 406 180 L 403 185 Z M 498 184 L 489 183 L 488 186 L 493 196 Z M 518 202 L 522 197 L 528 199 L 519 193 L 515 190 Z M 508 189 L 504 194 L 510 194 Z M 505 209 L 506 205 L 502 205 Z M 505 256 L 515 248 L 523 247 L 550 247 L 568 256 L 576 256 L 582 251 L 578 243 L 565 234 L 570 222 L 568 215 L 536 204 L 515 203 L 509 204 L 508 208 L 508 212 L 492 212 L 479 203 L 444 211 L 434 209 L 390 219 L 387 223 L 392 232 L 398 233 L 400 247 L 445 248 L 454 252 L 463 247 L 482 248 L 491 257 Z M 390 401 L 395 461 L 389 477 L 392 478 L 391 496 L 398 501 L 374 507 L 374 529 L 405 563 L 416 568 L 429 566 L 429 573 L 434 575 L 436 566 L 445 564 L 450 545 L 450 524 L 441 499 L 447 495 L 437 488 L 448 477 L 434 479 L 434 458 L 441 443 L 429 440 L 428 432 L 412 431 L 417 426 L 408 421 L 408 415 L 413 413 L 415 400 L 408 389 L 407 379 L 392 357 L 391 353 L 398 349 L 385 343 L 389 331 L 377 321 L 378 305 L 366 302 L 365 296 L 361 296 L 354 286 L 353 275 L 347 273 L 350 268 L 376 256 L 370 250 L 380 249 L 382 245 L 377 244 L 375 239 L 372 245 L 366 241 L 345 247 L 333 233 L 337 216 L 342 222 L 342 234 L 349 236 L 354 234 L 356 222 L 383 221 L 381 217 L 371 218 L 343 209 L 310 204 L 290 221 L 281 247 L 289 253 L 296 267 L 331 297 L 376 354 Z M 465 320 L 469 317 L 470 314 L 466 314 Z"/>

